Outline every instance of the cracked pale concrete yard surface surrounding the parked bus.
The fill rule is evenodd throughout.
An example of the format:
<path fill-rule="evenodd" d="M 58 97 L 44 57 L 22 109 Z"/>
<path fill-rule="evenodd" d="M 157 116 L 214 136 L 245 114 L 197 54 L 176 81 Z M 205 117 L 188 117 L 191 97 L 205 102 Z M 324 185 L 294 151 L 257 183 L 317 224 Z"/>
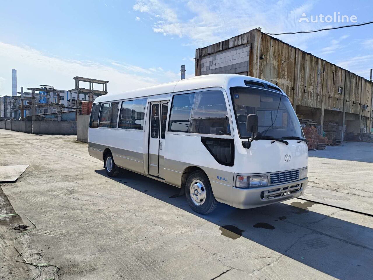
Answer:
<path fill-rule="evenodd" d="M 350 157 L 333 147 L 338 159 L 333 149 L 310 152 L 314 199 L 323 191 L 372 199 L 372 147 L 360 144 L 346 144 L 358 153 Z M 0 184 L 12 206 L 3 197 L 0 215 L 14 209 L 37 225 L 17 246 L 29 261 L 58 264 L 56 279 L 372 279 L 369 215 L 302 199 L 198 215 L 176 187 L 128 171 L 107 177 L 73 136 L 0 130 L 0 165 L 29 165 L 16 183 Z M 14 262 L 12 238 L 27 227 L 24 216 L 0 219 L 3 279 L 38 272 Z"/>

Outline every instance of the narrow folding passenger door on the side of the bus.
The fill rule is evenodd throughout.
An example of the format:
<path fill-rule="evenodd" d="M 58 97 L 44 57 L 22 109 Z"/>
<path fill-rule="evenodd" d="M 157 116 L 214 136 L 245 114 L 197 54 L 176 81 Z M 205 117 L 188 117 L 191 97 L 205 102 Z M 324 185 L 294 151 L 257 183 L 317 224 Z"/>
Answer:
<path fill-rule="evenodd" d="M 167 101 L 150 103 L 149 175 L 162 178 L 164 163 L 164 135 L 168 111 Z"/>

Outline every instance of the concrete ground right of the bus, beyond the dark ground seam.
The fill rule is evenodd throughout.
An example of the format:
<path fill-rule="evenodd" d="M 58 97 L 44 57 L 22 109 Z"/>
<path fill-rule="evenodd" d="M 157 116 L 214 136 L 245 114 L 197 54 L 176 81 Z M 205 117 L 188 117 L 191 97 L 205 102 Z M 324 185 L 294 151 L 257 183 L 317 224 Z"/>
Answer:
<path fill-rule="evenodd" d="M 343 142 L 312 150 L 303 198 L 373 215 L 372 171 L 373 143 Z"/>

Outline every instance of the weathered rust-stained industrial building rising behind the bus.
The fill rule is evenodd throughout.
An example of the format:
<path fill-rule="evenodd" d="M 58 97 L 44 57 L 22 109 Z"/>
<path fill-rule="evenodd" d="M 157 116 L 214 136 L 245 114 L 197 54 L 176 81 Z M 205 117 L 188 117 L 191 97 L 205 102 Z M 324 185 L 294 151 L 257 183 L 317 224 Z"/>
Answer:
<path fill-rule="evenodd" d="M 345 133 L 369 133 L 373 83 L 326 60 L 253 29 L 197 49 L 195 75 L 231 73 L 270 81 L 289 96 L 298 115 Z"/>

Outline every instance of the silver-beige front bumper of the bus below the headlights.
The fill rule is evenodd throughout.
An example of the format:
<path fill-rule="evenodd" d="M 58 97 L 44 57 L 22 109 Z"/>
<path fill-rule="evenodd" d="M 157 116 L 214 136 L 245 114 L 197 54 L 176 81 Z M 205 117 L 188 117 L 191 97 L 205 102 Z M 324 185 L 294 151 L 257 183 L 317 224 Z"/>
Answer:
<path fill-rule="evenodd" d="M 292 199 L 303 195 L 307 187 L 308 178 L 285 184 L 270 185 L 266 187 L 241 189 L 233 187 L 233 207 L 248 209 L 265 206 Z"/>

